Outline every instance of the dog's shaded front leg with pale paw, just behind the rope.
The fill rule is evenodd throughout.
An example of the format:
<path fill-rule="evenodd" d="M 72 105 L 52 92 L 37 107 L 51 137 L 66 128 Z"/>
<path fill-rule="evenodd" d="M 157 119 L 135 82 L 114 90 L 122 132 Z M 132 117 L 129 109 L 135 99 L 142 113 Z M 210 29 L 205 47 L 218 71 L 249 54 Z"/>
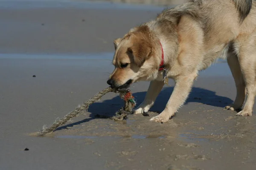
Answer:
<path fill-rule="evenodd" d="M 152 107 L 152 105 L 154 105 L 154 102 L 158 94 L 162 90 L 163 85 L 164 85 L 163 81 L 156 81 L 156 80 L 151 81 L 144 101 L 137 108 L 134 109 L 134 114 L 148 112 L 149 109 Z"/>

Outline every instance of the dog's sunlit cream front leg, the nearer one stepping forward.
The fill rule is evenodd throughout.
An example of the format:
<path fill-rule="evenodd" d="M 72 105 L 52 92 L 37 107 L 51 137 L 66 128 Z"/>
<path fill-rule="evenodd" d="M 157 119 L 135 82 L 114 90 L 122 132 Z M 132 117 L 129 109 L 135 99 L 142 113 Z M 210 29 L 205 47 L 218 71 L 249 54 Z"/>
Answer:
<path fill-rule="evenodd" d="M 168 120 L 174 116 L 178 108 L 180 108 L 180 106 L 182 106 L 186 101 L 196 77 L 197 74 L 177 77 L 177 79 L 175 79 L 174 90 L 166 105 L 166 108 L 162 113 L 151 118 L 150 120 L 153 122 L 168 122 Z"/>

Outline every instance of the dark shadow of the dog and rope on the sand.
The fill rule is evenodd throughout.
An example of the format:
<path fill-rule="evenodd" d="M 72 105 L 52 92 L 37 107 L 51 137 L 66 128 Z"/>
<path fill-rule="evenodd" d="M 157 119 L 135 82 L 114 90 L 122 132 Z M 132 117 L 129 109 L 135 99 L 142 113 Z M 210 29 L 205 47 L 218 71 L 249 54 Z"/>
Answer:
<path fill-rule="evenodd" d="M 150 109 L 150 111 L 161 113 L 164 110 L 170 95 L 172 94 L 173 88 L 174 87 L 164 88 L 158 95 L 156 102 L 154 106 Z M 133 96 L 136 99 L 137 106 L 140 105 L 141 102 L 143 102 L 145 94 L 146 94 L 145 91 L 133 94 Z M 227 104 L 232 103 L 233 100 L 224 96 L 218 96 L 215 94 L 214 91 L 209 91 L 203 88 L 194 87 L 192 88 L 192 91 L 189 94 L 189 98 L 186 100 L 185 105 L 189 102 L 197 102 L 205 105 L 224 108 Z M 93 103 L 92 105 L 90 105 L 88 109 L 88 112 L 91 113 L 90 118 L 58 127 L 56 130 L 66 129 L 67 127 L 72 127 L 74 125 L 79 125 L 81 123 L 89 122 L 90 120 L 93 120 L 93 119 L 102 119 L 102 118 L 95 117 L 96 114 L 113 116 L 115 115 L 116 111 L 119 110 L 119 108 L 121 108 L 123 105 L 124 105 L 124 102 L 122 101 L 122 99 L 120 99 L 119 96 L 116 96 L 113 99 L 105 100 L 102 102 Z"/>

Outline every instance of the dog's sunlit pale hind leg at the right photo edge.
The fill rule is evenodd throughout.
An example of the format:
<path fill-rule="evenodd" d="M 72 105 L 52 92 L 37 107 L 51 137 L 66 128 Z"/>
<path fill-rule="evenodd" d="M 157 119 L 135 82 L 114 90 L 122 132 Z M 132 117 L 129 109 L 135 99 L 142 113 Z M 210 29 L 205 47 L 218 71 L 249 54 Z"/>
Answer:
<path fill-rule="evenodd" d="M 235 43 L 246 91 L 244 108 L 236 115 L 251 116 L 256 94 L 256 33 L 242 35 Z"/>

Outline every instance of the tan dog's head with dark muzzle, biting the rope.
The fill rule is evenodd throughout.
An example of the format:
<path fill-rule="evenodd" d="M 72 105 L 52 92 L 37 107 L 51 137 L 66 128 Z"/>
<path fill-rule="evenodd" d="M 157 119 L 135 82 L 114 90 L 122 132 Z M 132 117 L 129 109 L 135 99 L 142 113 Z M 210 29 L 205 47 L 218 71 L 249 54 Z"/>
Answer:
<path fill-rule="evenodd" d="M 114 40 L 115 69 L 108 84 L 116 90 L 126 89 L 133 82 L 149 80 L 157 72 L 158 57 L 147 26 L 130 31 L 123 38 Z"/>

